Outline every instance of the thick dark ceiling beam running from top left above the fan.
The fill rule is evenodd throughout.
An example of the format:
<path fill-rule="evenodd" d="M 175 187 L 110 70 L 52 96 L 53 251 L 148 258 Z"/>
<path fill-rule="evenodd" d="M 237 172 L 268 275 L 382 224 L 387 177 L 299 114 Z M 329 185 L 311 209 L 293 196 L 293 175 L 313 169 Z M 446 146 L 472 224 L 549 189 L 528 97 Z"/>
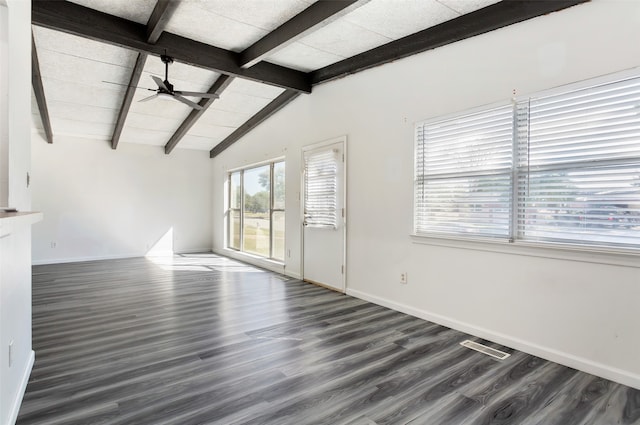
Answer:
<path fill-rule="evenodd" d="M 109 15 L 68 1 L 32 0 L 34 25 L 74 34 L 140 53 L 167 54 L 176 61 L 234 77 L 246 78 L 287 90 L 311 92 L 305 72 L 260 62 L 251 68 L 238 65 L 239 53 L 163 32 L 156 44 L 149 43 L 146 25 Z"/>

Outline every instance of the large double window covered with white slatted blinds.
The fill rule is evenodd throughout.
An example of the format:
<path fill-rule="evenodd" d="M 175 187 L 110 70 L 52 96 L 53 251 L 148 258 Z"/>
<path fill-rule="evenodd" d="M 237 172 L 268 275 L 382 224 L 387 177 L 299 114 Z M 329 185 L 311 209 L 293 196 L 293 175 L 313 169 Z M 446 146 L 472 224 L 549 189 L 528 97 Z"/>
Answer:
<path fill-rule="evenodd" d="M 416 127 L 415 231 L 640 248 L 640 78 Z"/>

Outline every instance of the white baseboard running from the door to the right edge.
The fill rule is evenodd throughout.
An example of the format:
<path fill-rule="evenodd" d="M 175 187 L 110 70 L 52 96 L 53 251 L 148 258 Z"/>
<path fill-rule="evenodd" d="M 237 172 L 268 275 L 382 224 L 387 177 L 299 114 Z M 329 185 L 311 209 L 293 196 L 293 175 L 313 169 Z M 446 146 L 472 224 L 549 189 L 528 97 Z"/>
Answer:
<path fill-rule="evenodd" d="M 640 389 L 640 375 L 631 373 L 626 370 L 594 362 L 592 360 L 585 359 L 584 357 L 579 357 L 573 354 L 555 350 L 553 348 L 544 347 L 529 341 L 514 338 L 509 335 L 504 335 L 499 332 L 494 332 L 489 329 L 472 325 L 470 323 L 452 319 L 450 317 L 430 313 L 425 310 L 390 301 L 385 298 L 371 295 L 367 292 L 358 291 L 356 289 L 347 288 L 347 295 L 351 295 L 353 297 L 360 298 L 362 300 L 369 301 L 374 304 L 399 311 L 401 313 L 419 317 L 420 319 L 428 320 L 429 322 L 437 323 L 439 325 L 446 326 L 460 332 L 465 332 L 489 341 L 493 341 L 507 347 L 515 348 L 516 350 L 532 354 L 534 356 L 542 357 L 543 359 L 550 360 L 564 366 L 572 367 L 583 372 L 587 372 L 596 376 L 600 376 L 602 378 L 619 382 L 624 385 L 628 385 L 633 388 Z"/>

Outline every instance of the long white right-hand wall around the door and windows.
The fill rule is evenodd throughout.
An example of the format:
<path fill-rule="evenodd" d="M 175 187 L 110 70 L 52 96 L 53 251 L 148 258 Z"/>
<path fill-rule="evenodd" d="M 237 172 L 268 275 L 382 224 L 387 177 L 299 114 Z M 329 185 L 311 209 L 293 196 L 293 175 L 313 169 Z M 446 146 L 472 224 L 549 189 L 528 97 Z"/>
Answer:
<path fill-rule="evenodd" d="M 214 250 L 225 171 L 284 154 L 299 273 L 300 148 L 346 134 L 348 293 L 640 388 L 638 257 L 409 236 L 415 122 L 640 66 L 638 39 L 640 2 L 598 0 L 315 87 L 214 159 Z"/>

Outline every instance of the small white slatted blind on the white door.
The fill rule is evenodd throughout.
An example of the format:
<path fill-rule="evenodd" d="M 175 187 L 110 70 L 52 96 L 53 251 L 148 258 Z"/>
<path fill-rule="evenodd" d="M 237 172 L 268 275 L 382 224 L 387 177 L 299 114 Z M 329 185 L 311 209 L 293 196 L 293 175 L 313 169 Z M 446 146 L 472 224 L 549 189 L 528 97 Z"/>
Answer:
<path fill-rule="evenodd" d="M 337 227 L 338 158 L 334 149 L 305 154 L 306 226 Z"/>

